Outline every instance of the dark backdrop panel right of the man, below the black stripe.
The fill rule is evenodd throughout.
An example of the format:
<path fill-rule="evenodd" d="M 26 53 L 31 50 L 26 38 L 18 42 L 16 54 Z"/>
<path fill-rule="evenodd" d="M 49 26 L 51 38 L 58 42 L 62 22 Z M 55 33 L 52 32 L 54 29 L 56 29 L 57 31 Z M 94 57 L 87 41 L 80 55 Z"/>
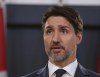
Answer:
<path fill-rule="evenodd" d="M 100 30 L 84 30 L 83 41 L 79 45 L 77 56 L 79 62 L 88 69 L 97 69 L 98 52 L 100 52 Z"/>

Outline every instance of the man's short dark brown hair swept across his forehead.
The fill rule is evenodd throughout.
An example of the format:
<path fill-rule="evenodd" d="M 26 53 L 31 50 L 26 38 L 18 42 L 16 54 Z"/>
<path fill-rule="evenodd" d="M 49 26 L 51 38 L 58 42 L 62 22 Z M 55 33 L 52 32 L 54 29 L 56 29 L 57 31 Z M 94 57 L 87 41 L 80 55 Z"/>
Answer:
<path fill-rule="evenodd" d="M 83 21 L 77 10 L 68 6 L 52 6 L 48 8 L 47 12 L 44 14 L 42 19 L 43 28 L 47 19 L 51 16 L 62 16 L 68 20 L 77 34 L 78 32 L 83 32 Z"/>

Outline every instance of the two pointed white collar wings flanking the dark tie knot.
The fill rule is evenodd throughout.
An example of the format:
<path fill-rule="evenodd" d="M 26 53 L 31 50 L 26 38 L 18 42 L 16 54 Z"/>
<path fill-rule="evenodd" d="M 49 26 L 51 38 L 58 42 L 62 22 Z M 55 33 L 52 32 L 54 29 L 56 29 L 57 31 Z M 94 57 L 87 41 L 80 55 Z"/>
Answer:
<path fill-rule="evenodd" d="M 77 59 L 76 59 L 74 62 L 70 63 L 69 65 L 65 66 L 62 69 L 66 70 L 68 74 L 70 74 L 71 76 L 74 77 L 77 65 L 78 65 L 78 62 L 77 62 Z M 59 67 L 52 64 L 50 61 L 48 61 L 48 69 L 49 69 L 49 76 L 51 76 L 51 75 L 54 74 L 54 72 L 57 69 L 59 69 Z"/>

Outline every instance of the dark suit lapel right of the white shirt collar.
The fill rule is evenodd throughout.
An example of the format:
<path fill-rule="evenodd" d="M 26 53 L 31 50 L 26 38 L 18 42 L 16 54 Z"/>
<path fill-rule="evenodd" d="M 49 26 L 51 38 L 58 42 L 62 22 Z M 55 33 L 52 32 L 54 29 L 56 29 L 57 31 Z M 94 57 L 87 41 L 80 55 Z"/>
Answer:
<path fill-rule="evenodd" d="M 88 71 L 80 64 L 78 64 L 78 67 L 75 72 L 75 77 L 86 77 L 89 76 Z"/>

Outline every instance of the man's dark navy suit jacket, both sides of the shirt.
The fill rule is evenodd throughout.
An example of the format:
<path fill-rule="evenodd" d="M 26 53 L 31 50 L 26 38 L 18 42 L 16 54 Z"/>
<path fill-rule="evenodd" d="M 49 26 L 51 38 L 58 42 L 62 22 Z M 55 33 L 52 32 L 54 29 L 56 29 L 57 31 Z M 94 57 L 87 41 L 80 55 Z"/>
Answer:
<path fill-rule="evenodd" d="M 21 77 L 49 77 L 48 66 L 46 65 L 42 69 Z M 82 65 L 78 64 L 74 77 L 100 77 L 100 75 L 93 71 L 85 69 Z"/>

